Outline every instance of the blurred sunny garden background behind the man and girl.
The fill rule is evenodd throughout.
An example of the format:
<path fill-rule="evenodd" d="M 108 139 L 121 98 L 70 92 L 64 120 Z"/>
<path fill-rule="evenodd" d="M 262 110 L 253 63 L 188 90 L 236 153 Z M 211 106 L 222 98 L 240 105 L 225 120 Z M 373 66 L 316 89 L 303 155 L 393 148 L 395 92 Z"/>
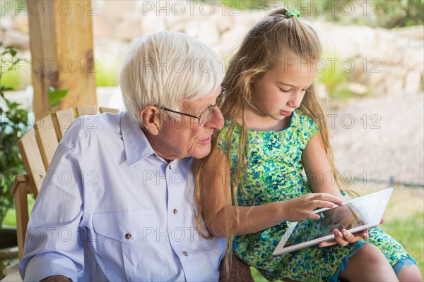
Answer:
<path fill-rule="evenodd" d="M 245 32 L 282 5 L 299 11 L 322 40 L 319 97 L 343 184 L 360 194 L 395 188 L 382 228 L 418 260 L 424 277 L 424 0 L 92 1 L 73 12 L 93 17 L 98 106 L 124 109 L 117 73 L 126 44 L 135 37 L 160 30 L 187 33 L 215 49 L 225 68 Z M 0 1 L 0 42 L 15 47 L 20 58 L 1 75 L 0 85 L 13 89 L 5 97 L 29 112 L 35 58 L 28 13 L 38 12 L 31 2 Z M 7 108 L 3 100 L 1 108 Z M 6 142 L 11 129 L 3 111 L 1 122 L 0 224 L 16 226 L 8 187 L 23 168 L 11 164 L 18 150 Z M 26 126 L 20 124 L 21 132 Z M 0 269 L 11 261 L 1 261 Z M 256 271 L 254 277 L 264 281 Z"/>

